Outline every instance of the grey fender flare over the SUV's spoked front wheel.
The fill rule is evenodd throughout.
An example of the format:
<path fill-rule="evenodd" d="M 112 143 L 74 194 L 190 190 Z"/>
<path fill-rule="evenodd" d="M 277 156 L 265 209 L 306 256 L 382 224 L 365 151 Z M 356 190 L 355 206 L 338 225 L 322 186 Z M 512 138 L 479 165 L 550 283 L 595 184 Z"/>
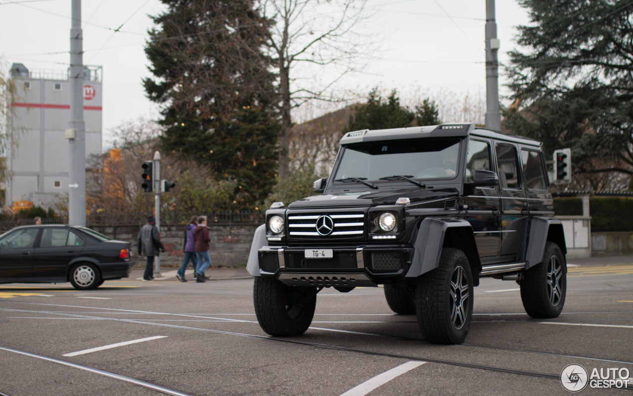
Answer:
<path fill-rule="evenodd" d="M 459 244 L 453 242 L 457 239 L 455 237 L 459 238 Z M 407 278 L 416 278 L 436 269 L 439 265 L 442 248 L 454 247 L 467 255 L 470 267 L 472 267 L 473 279 L 479 279 L 479 272 L 481 272 L 479 252 L 475 244 L 472 226 L 467 220 L 427 217 L 420 222 L 413 247 L 415 251 L 411 267 L 406 273 Z"/>

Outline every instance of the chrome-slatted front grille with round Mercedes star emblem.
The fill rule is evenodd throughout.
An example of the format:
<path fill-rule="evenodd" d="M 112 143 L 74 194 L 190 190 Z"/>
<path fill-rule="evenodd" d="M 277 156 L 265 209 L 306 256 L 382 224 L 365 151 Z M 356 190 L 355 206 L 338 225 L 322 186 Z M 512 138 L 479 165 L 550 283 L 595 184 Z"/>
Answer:
<path fill-rule="evenodd" d="M 328 214 L 291 214 L 288 227 L 291 238 L 355 238 L 363 236 L 363 212 Z"/>

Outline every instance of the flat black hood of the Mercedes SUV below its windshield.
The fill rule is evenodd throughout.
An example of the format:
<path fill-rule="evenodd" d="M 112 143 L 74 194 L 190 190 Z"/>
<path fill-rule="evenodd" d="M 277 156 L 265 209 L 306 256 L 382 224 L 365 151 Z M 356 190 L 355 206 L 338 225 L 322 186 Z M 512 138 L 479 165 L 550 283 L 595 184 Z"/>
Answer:
<path fill-rule="evenodd" d="M 395 205 L 398 198 L 409 198 L 411 203 L 448 196 L 456 196 L 454 188 L 446 189 L 390 189 L 384 191 L 360 191 L 358 193 L 323 194 L 308 196 L 288 205 L 289 208 L 316 207 L 370 207 L 374 205 Z"/>

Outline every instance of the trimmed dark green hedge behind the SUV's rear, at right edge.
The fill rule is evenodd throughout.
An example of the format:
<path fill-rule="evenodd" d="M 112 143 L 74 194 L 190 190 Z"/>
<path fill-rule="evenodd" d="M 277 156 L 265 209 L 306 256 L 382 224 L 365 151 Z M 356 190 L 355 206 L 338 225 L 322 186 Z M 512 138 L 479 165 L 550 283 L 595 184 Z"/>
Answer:
<path fill-rule="evenodd" d="M 558 216 L 582 215 L 582 199 L 554 198 L 554 212 Z M 633 231 L 633 198 L 590 197 L 591 231 Z"/>

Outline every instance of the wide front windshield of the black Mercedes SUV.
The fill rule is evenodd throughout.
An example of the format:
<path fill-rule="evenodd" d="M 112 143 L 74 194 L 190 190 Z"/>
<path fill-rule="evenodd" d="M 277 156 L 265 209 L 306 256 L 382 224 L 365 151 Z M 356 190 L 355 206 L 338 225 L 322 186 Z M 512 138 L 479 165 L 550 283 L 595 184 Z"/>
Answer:
<path fill-rule="evenodd" d="M 457 174 L 459 148 L 460 140 L 456 138 L 350 144 L 342 153 L 334 179 L 452 179 Z"/>

